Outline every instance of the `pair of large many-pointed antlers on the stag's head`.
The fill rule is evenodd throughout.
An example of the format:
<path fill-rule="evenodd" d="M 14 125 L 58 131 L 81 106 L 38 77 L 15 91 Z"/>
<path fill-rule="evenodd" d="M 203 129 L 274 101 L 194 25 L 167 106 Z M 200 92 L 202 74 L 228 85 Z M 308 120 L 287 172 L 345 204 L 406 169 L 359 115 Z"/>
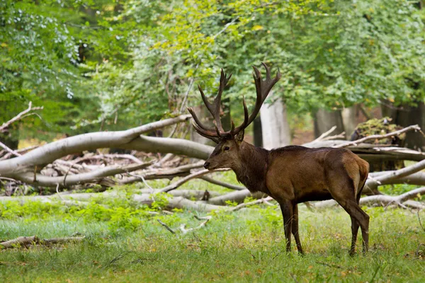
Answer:
<path fill-rule="evenodd" d="M 242 122 L 242 125 L 235 128 L 234 122 L 232 120 L 232 127 L 227 132 L 225 132 L 225 130 L 223 129 L 222 122 L 220 120 L 220 106 L 221 106 L 222 92 L 225 89 L 225 86 L 227 86 L 227 83 L 229 82 L 229 79 L 232 77 L 232 75 L 230 75 L 227 78 L 227 74 L 225 74 L 223 70 L 221 71 L 220 86 L 218 88 L 218 93 L 213 103 L 210 103 L 207 100 L 207 98 L 205 97 L 205 94 L 203 93 L 202 88 L 200 88 L 200 86 L 198 85 L 198 89 L 199 89 L 200 95 L 202 96 L 202 100 L 205 103 L 205 106 L 207 106 L 208 110 L 210 111 L 212 117 L 214 117 L 214 124 L 215 124 L 215 127 L 206 127 L 205 125 L 202 124 L 202 122 L 200 122 L 195 112 L 193 112 L 193 109 L 188 108 L 189 112 L 191 112 L 191 115 L 193 117 L 193 122 L 192 122 L 193 127 L 195 128 L 196 132 L 198 132 L 198 134 L 200 134 L 203 137 L 207 137 L 208 139 L 212 139 L 215 142 L 218 142 L 217 139 L 220 137 L 227 137 L 227 138 L 234 137 L 236 134 L 241 132 L 242 129 L 245 129 L 246 127 L 248 127 L 249 124 L 251 124 L 252 121 L 254 121 L 256 115 L 260 111 L 261 105 L 263 104 L 264 100 L 266 100 L 268 93 L 270 93 L 271 88 L 273 88 L 273 86 L 279 81 L 280 77 L 282 76 L 280 74 L 280 71 L 278 70 L 278 74 L 276 74 L 276 76 L 273 79 L 271 79 L 270 68 L 268 68 L 267 65 L 264 63 L 261 63 L 261 64 L 266 69 L 265 80 L 261 79 L 261 73 L 259 69 L 253 66 L 254 68 L 253 76 L 254 76 L 254 83 L 256 87 L 256 103 L 254 106 L 254 110 L 251 113 L 251 115 L 249 115 L 248 108 L 246 108 L 245 98 L 242 98 L 243 99 L 242 103 L 244 105 L 244 122 Z"/>

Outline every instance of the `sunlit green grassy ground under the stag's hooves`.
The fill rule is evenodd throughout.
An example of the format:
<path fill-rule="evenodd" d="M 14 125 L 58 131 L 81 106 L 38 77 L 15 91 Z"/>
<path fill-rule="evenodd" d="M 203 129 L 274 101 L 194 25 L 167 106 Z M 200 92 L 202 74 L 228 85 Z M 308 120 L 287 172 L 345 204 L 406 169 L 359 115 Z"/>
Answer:
<path fill-rule="evenodd" d="M 162 205 L 157 203 L 157 211 Z M 363 209 L 370 215 L 370 252 L 361 253 L 359 233 L 359 253 L 350 257 L 351 224 L 341 208 L 312 212 L 300 205 L 306 252 L 300 256 L 294 243 L 292 253 L 285 253 L 280 209 L 265 204 L 212 212 L 206 226 L 183 234 L 176 228 L 198 226 L 193 216 L 205 214 L 177 210 L 152 216 L 125 197 L 94 200 L 86 208 L 0 203 L 0 241 L 76 232 L 86 237 L 0 250 L 0 282 L 425 282 L 425 230 L 418 214 Z M 425 212 L 419 216 L 424 225 Z"/>

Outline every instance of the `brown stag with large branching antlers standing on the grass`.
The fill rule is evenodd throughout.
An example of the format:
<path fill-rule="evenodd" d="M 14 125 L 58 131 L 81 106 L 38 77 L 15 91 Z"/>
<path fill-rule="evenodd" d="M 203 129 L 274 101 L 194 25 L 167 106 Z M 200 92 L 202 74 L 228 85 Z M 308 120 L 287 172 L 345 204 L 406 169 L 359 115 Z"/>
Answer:
<path fill-rule="evenodd" d="M 212 115 L 214 126 L 204 125 L 193 108 L 188 108 L 192 116 L 193 128 L 203 137 L 211 139 L 217 146 L 204 163 L 209 171 L 231 168 L 237 180 L 250 192 L 263 192 L 280 205 L 283 215 L 286 252 L 291 251 L 291 234 L 295 238 L 298 253 L 304 255 L 298 233 L 298 207 L 302 202 L 336 200 L 351 218 L 351 248 L 349 255 L 356 253 L 358 228 L 363 237 L 363 253 L 368 251 L 369 216 L 359 206 L 361 192 L 368 178 L 369 163 L 348 149 L 322 147 L 317 149 L 305 146 L 284 146 L 278 149 L 263 149 L 244 141 L 244 129 L 254 121 L 261 105 L 273 86 L 279 81 L 280 71 L 271 78 L 270 68 L 266 69 L 266 79 L 254 68 L 256 88 L 254 110 L 249 114 L 245 98 L 242 98 L 244 121 L 234 127 L 231 120 L 229 131 L 225 131 L 220 120 L 222 92 L 232 74 L 227 76 L 221 70 L 217 96 L 208 101 L 203 89 L 198 90 L 203 103 Z"/>

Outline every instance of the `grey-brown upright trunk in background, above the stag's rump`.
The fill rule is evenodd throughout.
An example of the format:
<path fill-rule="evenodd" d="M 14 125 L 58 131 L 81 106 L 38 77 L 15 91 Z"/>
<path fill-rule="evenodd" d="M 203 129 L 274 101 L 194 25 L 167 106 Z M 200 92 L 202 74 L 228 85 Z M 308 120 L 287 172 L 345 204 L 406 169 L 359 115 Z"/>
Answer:
<path fill-rule="evenodd" d="M 334 126 L 336 126 L 336 134 L 344 132 L 344 123 L 342 122 L 342 115 L 340 110 L 329 112 L 324 109 L 319 109 L 316 113 L 314 113 L 315 137 L 320 137 L 321 134 L 329 131 L 329 129 Z"/>

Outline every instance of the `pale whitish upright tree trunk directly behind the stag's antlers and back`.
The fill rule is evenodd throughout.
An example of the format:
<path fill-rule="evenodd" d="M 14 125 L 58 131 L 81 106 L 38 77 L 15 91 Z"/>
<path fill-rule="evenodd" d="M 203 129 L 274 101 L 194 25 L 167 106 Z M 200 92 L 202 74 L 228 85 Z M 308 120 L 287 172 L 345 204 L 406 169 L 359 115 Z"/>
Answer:
<path fill-rule="evenodd" d="M 273 96 L 273 93 L 271 93 Z M 281 98 L 272 105 L 263 104 L 260 111 L 263 148 L 276 149 L 290 144 L 286 106 Z"/>

